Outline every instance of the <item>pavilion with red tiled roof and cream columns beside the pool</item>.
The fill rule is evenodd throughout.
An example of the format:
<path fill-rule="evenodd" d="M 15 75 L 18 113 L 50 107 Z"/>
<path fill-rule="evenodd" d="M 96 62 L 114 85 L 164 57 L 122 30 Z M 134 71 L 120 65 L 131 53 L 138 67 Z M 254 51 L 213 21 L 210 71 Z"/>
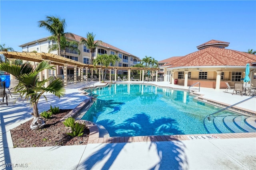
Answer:
<path fill-rule="evenodd" d="M 160 68 L 164 68 L 164 81 L 182 86 L 200 82 L 201 87 L 226 88 L 225 82 L 230 86 L 243 82 L 249 63 L 251 80 L 248 84 L 256 87 L 256 55 L 225 49 L 228 45 L 228 42 L 211 40 L 197 46 L 199 51 L 159 61 Z"/>

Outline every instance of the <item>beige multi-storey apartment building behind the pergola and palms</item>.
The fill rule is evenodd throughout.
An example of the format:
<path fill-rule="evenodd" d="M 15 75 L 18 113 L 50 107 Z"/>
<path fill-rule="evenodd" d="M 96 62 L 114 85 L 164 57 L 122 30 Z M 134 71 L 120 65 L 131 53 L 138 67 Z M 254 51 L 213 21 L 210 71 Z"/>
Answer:
<path fill-rule="evenodd" d="M 65 57 L 68 59 L 72 59 L 74 61 L 79 61 L 84 64 L 93 64 L 93 60 L 96 59 L 97 55 L 100 54 L 107 54 L 107 55 L 116 55 L 120 58 L 120 62 L 111 63 L 110 66 L 119 66 L 119 67 L 132 67 L 135 64 L 140 63 L 140 59 L 136 57 L 135 55 L 132 55 L 122 49 L 119 49 L 117 47 L 114 47 L 113 45 L 110 45 L 108 43 L 102 42 L 100 43 L 96 49 L 93 49 L 92 51 L 92 57 L 91 57 L 91 51 L 86 47 L 85 44 L 80 44 L 80 40 L 86 39 L 85 37 L 81 37 L 79 35 L 73 34 L 73 36 L 66 35 L 67 41 L 76 41 L 78 43 L 78 49 L 80 50 L 80 55 L 74 50 L 71 50 L 69 48 L 66 48 L 66 55 Z M 32 52 L 36 51 L 38 53 L 48 53 L 48 49 L 50 45 L 56 43 L 52 40 L 49 40 L 49 37 L 44 37 L 42 39 L 37 39 L 28 43 L 24 43 L 20 45 L 19 47 L 22 48 L 23 52 Z M 71 38 L 72 37 L 72 38 Z M 50 53 L 58 54 L 58 51 L 51 51 Z M 64 51 L 61 51 L 60 54 L 62 57 L 64 57 Z M 91 70 L 88 70 L 90 72 Z M 96 70 L 94 70 L 96 72 Z M 53 71 L 54 72 L 54 71 Z M 54 74 L 51 72 L 50 74 Z M 83 70 L 83 72 L 86 72 L 86 69 Z M 62 67 L 57 68 L 57 74 L 63 74 Z M 74 74 L 74 68 L 72 65 L 68 65 L 67 74 Z M 77 73 L 78 74 L 78 73 Z M 111 74 L 114 74 L 114 70 L 111 71 Z M 117 74 L 128 74 L 127 70 L 118 70 Z"/>

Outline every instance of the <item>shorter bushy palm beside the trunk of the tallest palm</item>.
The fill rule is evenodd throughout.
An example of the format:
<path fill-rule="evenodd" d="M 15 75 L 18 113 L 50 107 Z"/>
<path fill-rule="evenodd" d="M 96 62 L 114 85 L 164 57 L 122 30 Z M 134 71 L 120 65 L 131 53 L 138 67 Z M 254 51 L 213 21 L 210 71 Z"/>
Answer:
<path fill-rule="evenodd" d="M 56 40 L 56 37 L 50 37 L 50 40 Z M 66 57 L 66 48 L 70 50 L 76 51 L 78 55 L 80 55 L 80 50 L 78 49 L 78 42 L 76 41 L 67 41 L 65 37 L 60 38 L 60 50 L 63 50 L 64 57 Z M 52 44 L 48 47 L 48 53 L 51 51 L 56 51 L 59 49 L 57 44 Z"/>

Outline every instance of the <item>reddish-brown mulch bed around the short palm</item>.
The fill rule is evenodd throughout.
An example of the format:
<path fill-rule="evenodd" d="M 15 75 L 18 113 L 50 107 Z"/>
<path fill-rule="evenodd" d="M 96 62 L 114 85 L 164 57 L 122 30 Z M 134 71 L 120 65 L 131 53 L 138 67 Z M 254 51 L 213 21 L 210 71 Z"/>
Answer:
<path fill-rule="evenodd" d="M 86 145 L 89 137 L 89 129 L 86 127 L 80 137 L 71 137 L 66 133 L 71 132 L 70 127 L 65 127 L 62 121 L 70 109 L 60 109 L 60 113 L 52 115 L 50 119 L 44 119 L 42 129 L 31 130 L 30 124 L 33 118 L 18 127 L 10 130 L 14 147 L 50 147 L 66 145 Z M 32 117 L 32 115 L 31 115 Z"/>

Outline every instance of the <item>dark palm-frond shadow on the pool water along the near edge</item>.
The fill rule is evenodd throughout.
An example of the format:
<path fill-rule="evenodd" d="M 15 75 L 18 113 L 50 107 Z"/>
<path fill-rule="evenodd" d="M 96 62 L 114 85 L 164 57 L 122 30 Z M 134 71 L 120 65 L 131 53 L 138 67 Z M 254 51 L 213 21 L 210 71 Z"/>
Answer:
<path fill-rule="evenodd" d="M 182 135 L 176 120 L 161 118 L 151 120 L 146 113 L 138 113 L 123 123 L 115 125 L 115 121 L 105 119 L 97 122 L 109 130 L 110 137 L 150 136 L 150 135 Z"/>

